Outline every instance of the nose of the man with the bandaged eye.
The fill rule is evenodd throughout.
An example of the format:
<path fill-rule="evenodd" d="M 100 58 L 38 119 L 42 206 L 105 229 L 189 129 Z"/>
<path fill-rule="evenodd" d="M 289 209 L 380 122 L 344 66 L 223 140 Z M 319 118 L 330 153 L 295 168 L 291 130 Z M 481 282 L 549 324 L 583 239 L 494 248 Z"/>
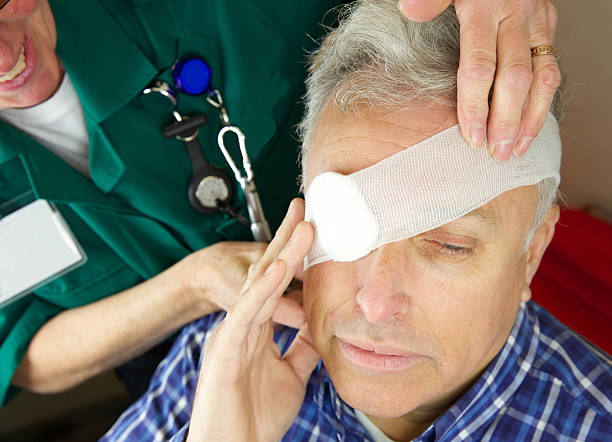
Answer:
<path fill-rule="evenodd" d="M 359 266 L 355 301 L 370 322 L 385 322 L 408 308 L 402 275 L 405 260 L 396 246 L 386 244 L 376 249 Z"/>

